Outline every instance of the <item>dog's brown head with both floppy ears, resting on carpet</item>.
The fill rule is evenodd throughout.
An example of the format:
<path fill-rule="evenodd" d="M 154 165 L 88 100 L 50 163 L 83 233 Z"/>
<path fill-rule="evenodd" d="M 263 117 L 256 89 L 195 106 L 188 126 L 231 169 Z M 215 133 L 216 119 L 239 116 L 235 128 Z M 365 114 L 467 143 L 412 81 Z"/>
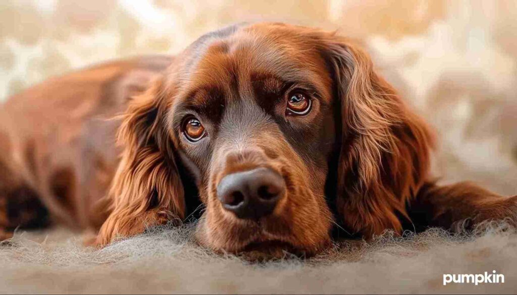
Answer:
<path fill-rule="evenodd" d="M 199 198 L 202 245 L 273 255 L 323 249 L 336 216 L 367 236 L 400 230 L 430 144 L 355 45 L 271 23 L 195 41 L 131 102 L 120 138 L 101 239 L 130 231 L 145 211 L 185 218 Z"/>

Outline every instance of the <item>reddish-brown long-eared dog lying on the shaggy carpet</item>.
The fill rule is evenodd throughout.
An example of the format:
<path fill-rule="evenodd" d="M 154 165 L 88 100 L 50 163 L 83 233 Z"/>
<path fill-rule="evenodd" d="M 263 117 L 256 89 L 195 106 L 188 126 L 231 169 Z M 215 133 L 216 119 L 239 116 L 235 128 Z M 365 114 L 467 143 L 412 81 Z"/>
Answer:
<path fill-rule="evenodd" d="M 517 196 L 437 185 L 430 128 L 357 43 L 319 29 L 226 27 L 176 56 L 46 81 L 1 112 L 0 239 L 60 222 L 102 247 L 197 216 L 215 252 L 310 256 L 340 232 L 517 220 Z"/>

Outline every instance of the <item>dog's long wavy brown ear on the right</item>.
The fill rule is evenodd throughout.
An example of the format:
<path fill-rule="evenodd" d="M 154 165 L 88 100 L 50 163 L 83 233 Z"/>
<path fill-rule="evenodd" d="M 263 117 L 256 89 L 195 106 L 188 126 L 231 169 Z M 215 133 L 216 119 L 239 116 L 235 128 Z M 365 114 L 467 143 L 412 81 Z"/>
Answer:
<path fill-rule="evenodd" d="M 428 177 L 433 136 L 374 70 L 369 55 L 334 35 L 324 42 L 341 107 L 337 208 L 366 237 L 401 231 L 407 201 Z"/>

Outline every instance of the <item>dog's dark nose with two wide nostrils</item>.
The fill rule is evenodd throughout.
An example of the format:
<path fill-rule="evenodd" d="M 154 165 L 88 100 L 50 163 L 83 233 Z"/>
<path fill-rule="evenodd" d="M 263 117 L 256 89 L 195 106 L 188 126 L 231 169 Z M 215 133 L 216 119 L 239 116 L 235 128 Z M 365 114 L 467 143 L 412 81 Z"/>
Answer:
<path fill-rule="evenodd" d="M 232 173 L 217 185 L 217 196 L 223 207 L 241 219 L 258 219 L 270 214 L 284 192 L 284 179 L 269 168 Z"/>

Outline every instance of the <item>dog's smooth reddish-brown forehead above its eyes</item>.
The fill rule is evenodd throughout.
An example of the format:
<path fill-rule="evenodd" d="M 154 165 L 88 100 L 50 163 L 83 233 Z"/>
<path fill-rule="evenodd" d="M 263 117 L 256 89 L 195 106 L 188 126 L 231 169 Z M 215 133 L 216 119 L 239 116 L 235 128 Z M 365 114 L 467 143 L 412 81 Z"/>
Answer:
<path fill-rule="evenodd" d="M 222 104 L 252 96 L 257 85 L 274 91 L 287 83 L 310 85 L 330 96 L 325 61 L 302 35 L 260 26 L 227 31 L 204 37 L 189 50 L 195 56 L 180 74 L 180 92 L 189 104 Z"/>

